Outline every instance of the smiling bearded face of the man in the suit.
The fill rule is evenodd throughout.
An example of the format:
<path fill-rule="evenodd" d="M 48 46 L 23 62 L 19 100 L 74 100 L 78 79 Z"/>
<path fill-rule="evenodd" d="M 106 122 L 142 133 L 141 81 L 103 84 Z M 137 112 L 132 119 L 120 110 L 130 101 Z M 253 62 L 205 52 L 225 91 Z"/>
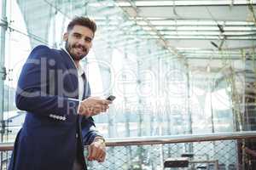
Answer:
<path fill-rule="evenodd" d="M 93 36 L 89 28 L 78 25 L 64 34 L 65 48 L 74 60 L 83 59 L 89 53 Z"/>

